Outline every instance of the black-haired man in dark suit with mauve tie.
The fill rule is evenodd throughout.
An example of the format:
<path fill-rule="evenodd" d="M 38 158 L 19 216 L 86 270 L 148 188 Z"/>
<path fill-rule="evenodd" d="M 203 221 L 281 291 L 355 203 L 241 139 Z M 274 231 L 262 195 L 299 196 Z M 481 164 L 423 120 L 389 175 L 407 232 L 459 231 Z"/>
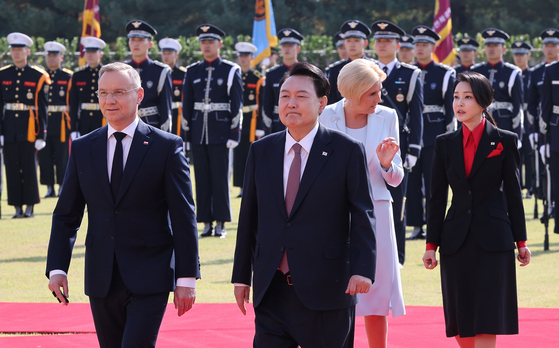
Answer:
<path fill-rule="evenodd" d="M 318 124 L 330 86 L 320 69 L 297 63 L 282 82 L 287 130 L 248 156 L 235 298 L 246 314 L 252 279 L 255 347 L 353 347 L 354 294 L 369 291 L 376 263 L 365 150 Z"/>

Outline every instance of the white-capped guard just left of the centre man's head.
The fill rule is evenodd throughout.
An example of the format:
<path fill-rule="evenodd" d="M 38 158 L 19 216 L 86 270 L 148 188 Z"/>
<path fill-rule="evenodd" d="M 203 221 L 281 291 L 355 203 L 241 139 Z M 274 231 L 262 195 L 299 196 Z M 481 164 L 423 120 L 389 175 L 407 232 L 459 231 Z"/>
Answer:
<path fill-rule="evenodd" d="M 239 197 L 241 197 L 250 144 L 265 135 L 258 107 L 264 86 L 264 76 L 258 70 L 251 68 L 250 63 L 254 52 L 257 50 L 256 46 L 248 42 L 237 42 L 235 50 L 237 50 L 238 61 L 241 66 L 244 98 L 241 142 L 233 150 L 233 186 L 241 188 L 239 193 Z"/>

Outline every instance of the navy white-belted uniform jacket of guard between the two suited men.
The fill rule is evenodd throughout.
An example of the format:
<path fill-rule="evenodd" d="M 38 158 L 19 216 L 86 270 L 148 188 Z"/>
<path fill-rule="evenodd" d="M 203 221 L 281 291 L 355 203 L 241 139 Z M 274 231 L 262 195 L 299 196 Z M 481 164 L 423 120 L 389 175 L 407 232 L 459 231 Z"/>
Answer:
<path fill-rule="evenodd" d="M 243 116 L 241 67 L 228 60 L 202 60 L 186 69 L 183 116 L 187 141 L 225 144 L 240 141 Z"/>

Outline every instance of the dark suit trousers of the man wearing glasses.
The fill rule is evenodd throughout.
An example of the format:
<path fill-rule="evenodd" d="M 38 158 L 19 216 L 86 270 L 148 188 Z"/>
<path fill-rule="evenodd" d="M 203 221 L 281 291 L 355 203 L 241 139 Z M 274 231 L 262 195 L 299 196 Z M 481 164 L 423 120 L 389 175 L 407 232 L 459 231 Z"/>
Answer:
<path fill-rule="evenodd" d="M 168 292 L 132 294 L 115 262 L 107 296 L 89 297 L 100 347 L 155 347 L 168 299 Z"/>

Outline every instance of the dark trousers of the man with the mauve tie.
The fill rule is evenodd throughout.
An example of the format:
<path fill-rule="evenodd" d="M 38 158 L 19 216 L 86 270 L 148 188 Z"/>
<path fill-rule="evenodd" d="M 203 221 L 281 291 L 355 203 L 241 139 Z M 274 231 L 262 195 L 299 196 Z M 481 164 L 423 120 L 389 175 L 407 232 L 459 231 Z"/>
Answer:
<path fill-rule="evenodd" d="M 281 271 L 276 272 L 254 312 L 255 348 L 353 347 L 355 306 L 328 311 L 309 309 Z"/>

